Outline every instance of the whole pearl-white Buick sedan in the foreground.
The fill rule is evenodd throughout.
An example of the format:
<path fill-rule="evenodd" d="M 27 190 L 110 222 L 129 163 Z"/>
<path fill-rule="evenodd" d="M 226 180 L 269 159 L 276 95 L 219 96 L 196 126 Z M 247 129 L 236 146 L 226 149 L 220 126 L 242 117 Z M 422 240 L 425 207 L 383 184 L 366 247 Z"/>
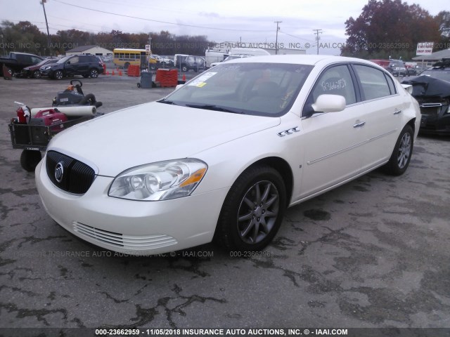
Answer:
<path fill-rule="evenodd" d="M 59 133 L 37 189 L 59 225 L 112 251 L 213 239 L 256 251 L 287 207 L 379 166 L 404 173 L 419 124 L 416 100 L 373 62 L 242 58 L 162 100 Z"/>

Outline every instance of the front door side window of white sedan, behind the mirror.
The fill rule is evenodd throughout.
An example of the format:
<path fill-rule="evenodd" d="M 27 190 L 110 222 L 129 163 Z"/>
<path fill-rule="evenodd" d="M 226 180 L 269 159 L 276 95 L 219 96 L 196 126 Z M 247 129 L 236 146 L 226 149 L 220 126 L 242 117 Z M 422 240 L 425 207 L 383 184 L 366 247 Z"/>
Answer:
<path fill-rule="evenodd" d="M 344 96 L 347 105 L 356 103 L 352 76 L 347 65 L 330 67 L 321 74 L 311 93 L 311 103 L 323 94 Z"/>

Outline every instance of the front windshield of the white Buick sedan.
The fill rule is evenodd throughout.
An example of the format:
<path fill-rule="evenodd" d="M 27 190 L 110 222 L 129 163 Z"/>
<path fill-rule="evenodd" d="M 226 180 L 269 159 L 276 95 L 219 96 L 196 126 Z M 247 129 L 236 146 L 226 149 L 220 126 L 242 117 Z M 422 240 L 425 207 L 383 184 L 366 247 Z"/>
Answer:
<path fill-rule="evenodd" d="M 312 67 L 285 63 L 221 63 L 160 103 L 281 116 L 293 105 Z"/>

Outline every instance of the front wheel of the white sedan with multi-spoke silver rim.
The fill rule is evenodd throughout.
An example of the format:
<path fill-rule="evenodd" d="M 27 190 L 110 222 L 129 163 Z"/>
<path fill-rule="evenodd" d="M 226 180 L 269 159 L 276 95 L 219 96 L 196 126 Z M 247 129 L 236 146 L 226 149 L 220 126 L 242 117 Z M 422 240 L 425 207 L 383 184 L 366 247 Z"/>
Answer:
<path fill-rule="evenodd" d="M 271 166 L 250 166 L 226 195 L 214 241 L 229 251 L 259 251 L 278 232 L 285 208 L 280 173 Z"/>

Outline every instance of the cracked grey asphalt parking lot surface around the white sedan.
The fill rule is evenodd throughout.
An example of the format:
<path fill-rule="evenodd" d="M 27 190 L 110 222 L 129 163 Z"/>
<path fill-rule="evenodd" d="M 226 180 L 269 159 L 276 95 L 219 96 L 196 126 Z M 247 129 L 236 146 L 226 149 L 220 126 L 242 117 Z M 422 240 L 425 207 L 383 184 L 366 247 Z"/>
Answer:
<path fill-rule="evenodd" d="M 262 252 L 120 256 L 51 220 L 11 146 L 14 101 L 49 106 L 68 81 L 0 79 L 0 327 L 450 327 L 450 137 L 419 136 L 404 176 L 375 171 L 288 209 Z M 105 113 L 173 90 L 82 81 Z"/>

